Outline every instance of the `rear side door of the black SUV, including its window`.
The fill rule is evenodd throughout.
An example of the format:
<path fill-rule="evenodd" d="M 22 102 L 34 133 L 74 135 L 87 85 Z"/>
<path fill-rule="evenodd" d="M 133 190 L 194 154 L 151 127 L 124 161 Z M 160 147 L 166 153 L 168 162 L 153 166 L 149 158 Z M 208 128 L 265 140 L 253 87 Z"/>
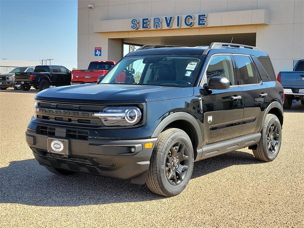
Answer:
<path fill-rule="evenodd" d="M 250 55 L 233 54 L 238 84 L 243 90 L 244 118 L 242 135 L 259 132 L 264 111 L 271 101 L 269 89 L 261 80 Z"/>

